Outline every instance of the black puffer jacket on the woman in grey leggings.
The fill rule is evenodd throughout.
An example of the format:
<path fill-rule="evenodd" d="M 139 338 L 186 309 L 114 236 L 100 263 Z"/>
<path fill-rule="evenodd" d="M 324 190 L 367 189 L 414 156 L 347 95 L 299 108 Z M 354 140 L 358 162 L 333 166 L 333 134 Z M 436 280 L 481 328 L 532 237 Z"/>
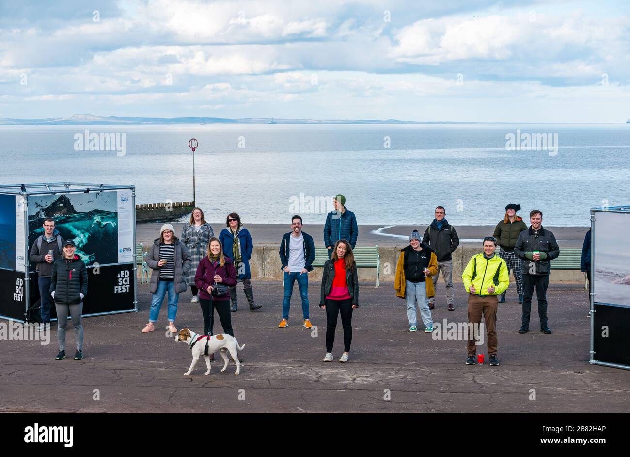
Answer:
<path fill-rule="evenodd" d="M 52 266 L 50 293 L 57 304 L 79 304 L 88 294 L 88 269 L 81 257 L 58 258 Z"/>

